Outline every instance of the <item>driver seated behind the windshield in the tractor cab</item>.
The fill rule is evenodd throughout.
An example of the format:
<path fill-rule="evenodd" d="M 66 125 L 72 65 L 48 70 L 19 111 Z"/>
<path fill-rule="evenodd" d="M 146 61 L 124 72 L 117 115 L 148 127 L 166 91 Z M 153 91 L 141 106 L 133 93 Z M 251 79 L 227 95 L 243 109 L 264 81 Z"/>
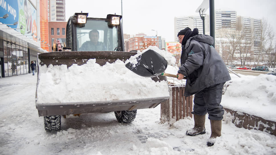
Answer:
<path fill-rule="evenodd" d="M 99 31 L 91 30 L 89 32 L 90 41 L 86 41 L 79 48 L 79 51 L 105 51 L 103 42 L 99 42 Z"/>

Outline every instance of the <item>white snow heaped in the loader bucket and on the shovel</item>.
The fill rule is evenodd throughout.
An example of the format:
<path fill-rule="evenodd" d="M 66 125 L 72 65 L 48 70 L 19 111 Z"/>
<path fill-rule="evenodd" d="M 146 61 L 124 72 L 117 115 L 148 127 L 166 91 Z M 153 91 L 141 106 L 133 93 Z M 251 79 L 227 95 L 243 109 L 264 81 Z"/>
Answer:
<path fill-rule="evenodd" d="M 165 53 L 162 55 L 172 62 L 167 52 L 151 49 Z M 67 65 L 39 66 L 37 103 L 114 101 L 170 95 L 167 81 L 155 82 L 139 76 L 127 69 L 125 63 L 116 60 L 100 66 L 96 59 L 90 59 L 84 65 L 73 64 L 68 69 Z"/>

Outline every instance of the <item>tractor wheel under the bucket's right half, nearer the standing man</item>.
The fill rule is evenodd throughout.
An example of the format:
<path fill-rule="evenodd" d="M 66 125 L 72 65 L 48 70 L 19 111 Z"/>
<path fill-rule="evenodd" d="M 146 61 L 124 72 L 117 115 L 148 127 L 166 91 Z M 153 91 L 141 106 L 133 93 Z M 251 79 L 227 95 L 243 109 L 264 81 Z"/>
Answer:
<path fill-rule="evenodd" d="M 118 122 L 120 123 L 129 123 L 132 122 L 135 117 L 137 110 L 131 110 L 131 111 L 115 111 L 115 116 Z"/>

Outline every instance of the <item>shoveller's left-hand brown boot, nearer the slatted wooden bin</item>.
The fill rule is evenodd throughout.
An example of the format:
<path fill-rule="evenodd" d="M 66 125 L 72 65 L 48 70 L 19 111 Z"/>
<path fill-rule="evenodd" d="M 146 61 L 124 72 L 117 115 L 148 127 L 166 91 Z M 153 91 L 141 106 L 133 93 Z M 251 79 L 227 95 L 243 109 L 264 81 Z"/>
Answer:
<path fill-rule="evenodd" d="M 205 134 L 205 115 L 194 115 L 194 128 L 186 131 L 188 136 L 196 136 L 198 134 Z"/>

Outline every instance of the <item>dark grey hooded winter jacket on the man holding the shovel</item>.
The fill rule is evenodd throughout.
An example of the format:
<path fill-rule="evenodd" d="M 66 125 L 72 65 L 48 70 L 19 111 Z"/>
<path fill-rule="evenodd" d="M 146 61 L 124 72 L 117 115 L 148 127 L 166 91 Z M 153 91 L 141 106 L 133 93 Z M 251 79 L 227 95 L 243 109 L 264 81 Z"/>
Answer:
<path fill-rule="evenodd" d="M 222 58 L 212 46 L 213 43 L 212 36 L 197 34 L 182 45 L 178 73 L 187 78 L 185 96 L 231 79 Z"/>

